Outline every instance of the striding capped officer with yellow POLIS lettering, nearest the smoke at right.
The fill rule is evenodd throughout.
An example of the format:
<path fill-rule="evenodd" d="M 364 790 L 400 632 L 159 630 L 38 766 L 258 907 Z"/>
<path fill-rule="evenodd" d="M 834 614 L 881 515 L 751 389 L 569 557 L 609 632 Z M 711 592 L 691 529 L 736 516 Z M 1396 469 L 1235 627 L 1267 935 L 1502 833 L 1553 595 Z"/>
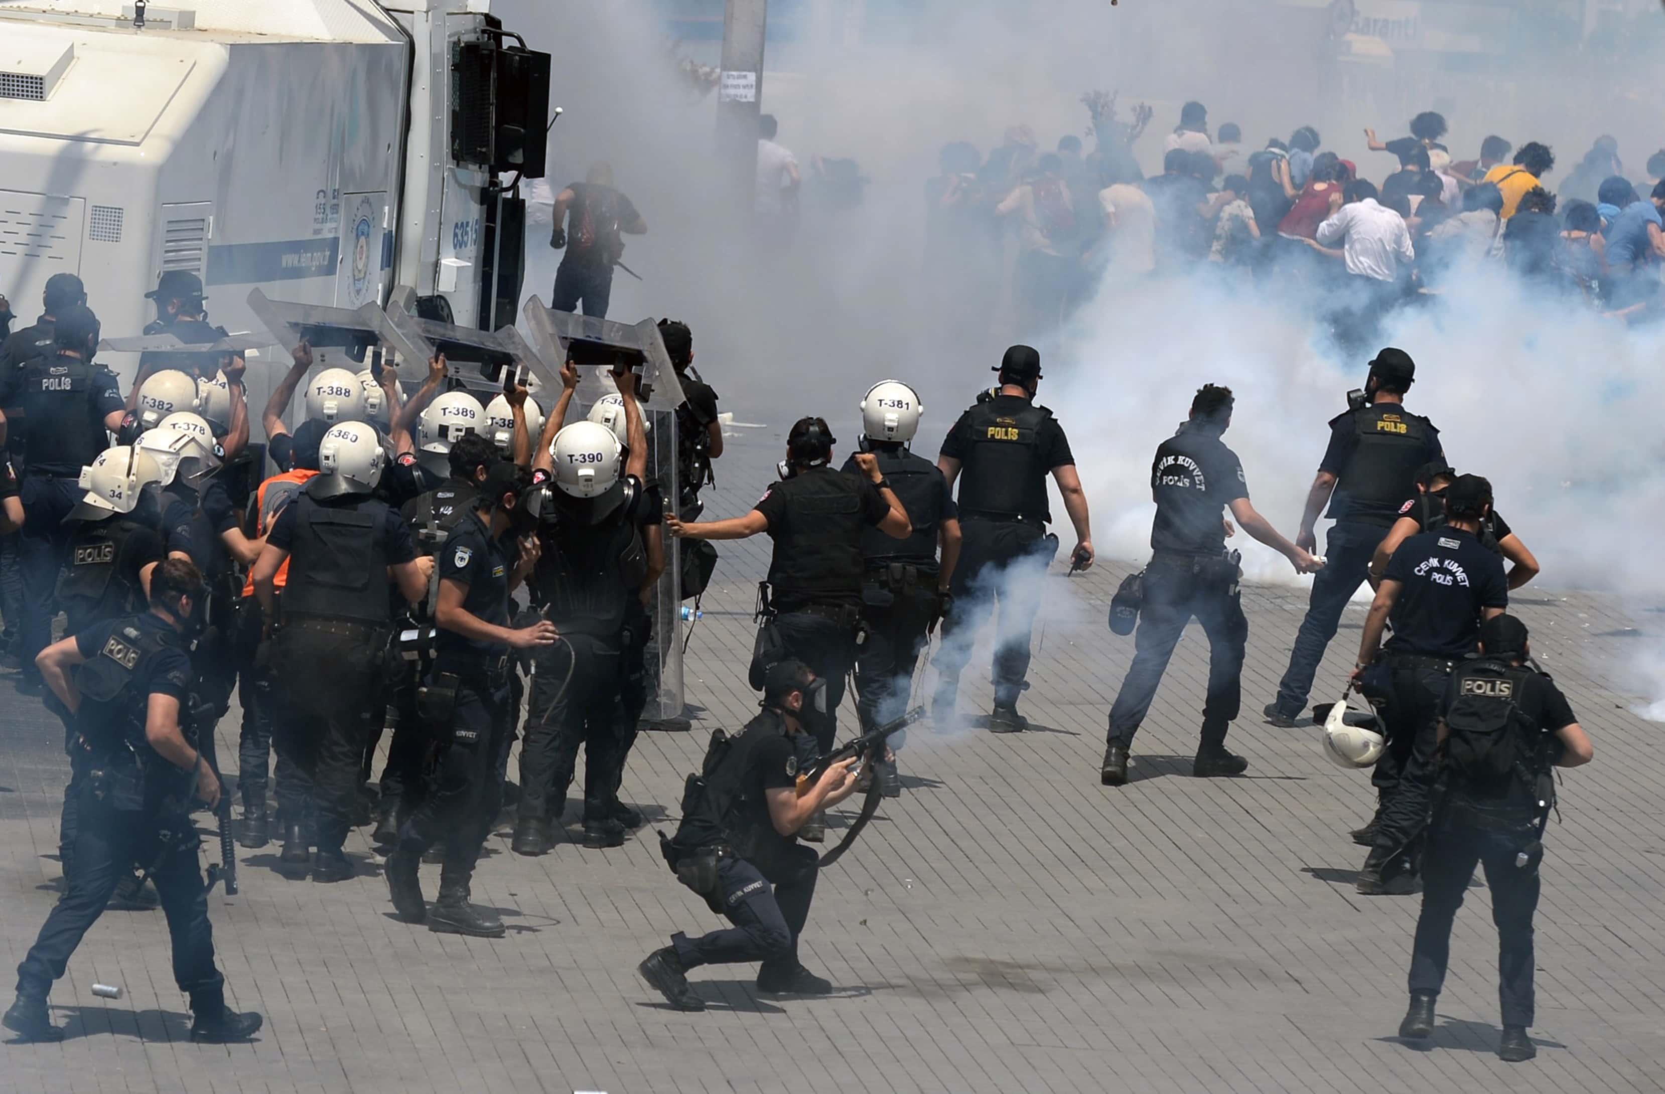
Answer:
<path fill-rule="evenodd" d="M 1410 355 L 1387 346 L 1370 361 L 1362 400 L 1349 400 L 1357 406 L 1330 420 L 1330 445 L 1307 493 L 1295 543 L 1305 551 L 1317 548 L 1312 526 L 1325 503 L 1335 525 L 1324 541 L 1325 566 L 1312 581 L 1289 668 L 1265 706 L 1274 726 L 1294 726 L 1300 716 L 1342 609 L 1369 578 L 1370 556 L 1405 498 L 1415 493 L 1417 468 L 1444 461 L 1440 431 L 1404 406 L 1415 375 Z"/>

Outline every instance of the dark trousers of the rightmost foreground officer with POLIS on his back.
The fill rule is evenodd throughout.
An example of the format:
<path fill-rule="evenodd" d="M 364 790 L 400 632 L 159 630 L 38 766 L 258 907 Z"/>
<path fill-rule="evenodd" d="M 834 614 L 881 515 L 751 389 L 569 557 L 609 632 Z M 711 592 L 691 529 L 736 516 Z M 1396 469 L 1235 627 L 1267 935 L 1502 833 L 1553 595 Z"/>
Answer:
<path fill-rule="evenodd" d="M 1452 922 L 1474 878 L 1475 863 L 1485 869 L 1492 891 L 1492 922 L 1497 924 L 1498 1001 L 1505 1026 L 1530 1026 L 1532 916 L 1538 908 L 1537 863 L 1515 866 L 1522 851 L 1537 841 L 1537 826 L 1527 813 L 1507 821 L 1477 824 L 1442 809 L 1429 831 L 1422 859 L 1422 914 L 1410 951 L 1410 991 L 1439 994 L 1450 962 Z"/>

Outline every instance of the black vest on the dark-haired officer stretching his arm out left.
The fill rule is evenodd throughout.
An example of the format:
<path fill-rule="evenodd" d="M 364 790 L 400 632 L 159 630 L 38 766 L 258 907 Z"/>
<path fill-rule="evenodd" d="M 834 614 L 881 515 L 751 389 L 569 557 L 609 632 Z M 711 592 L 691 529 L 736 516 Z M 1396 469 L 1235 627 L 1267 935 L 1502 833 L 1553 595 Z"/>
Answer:
<path fill-rule="evenodd" d="M 769 528 L 769 584 L 783 611 L 861 599 L 862 485 L 859 475 L 808 468 L 769 490 L 786 491 L 786 515 Z"/>

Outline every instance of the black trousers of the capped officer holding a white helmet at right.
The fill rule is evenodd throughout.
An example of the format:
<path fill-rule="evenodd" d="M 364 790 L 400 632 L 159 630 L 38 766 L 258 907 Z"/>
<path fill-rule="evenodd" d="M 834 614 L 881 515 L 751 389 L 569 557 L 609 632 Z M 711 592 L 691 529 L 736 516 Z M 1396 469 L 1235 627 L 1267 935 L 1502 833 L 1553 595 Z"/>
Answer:
<path fill-rule="evenodd" d="M 1387 749 L 1370 781 L 1380 796 L 1375 849 L 1390 854 L 1382 876 L 1415 869 L 1434 798 L 1434 744 L 1450 663 L 1387 654 L 1392 691 L 1382 706 Z"/>

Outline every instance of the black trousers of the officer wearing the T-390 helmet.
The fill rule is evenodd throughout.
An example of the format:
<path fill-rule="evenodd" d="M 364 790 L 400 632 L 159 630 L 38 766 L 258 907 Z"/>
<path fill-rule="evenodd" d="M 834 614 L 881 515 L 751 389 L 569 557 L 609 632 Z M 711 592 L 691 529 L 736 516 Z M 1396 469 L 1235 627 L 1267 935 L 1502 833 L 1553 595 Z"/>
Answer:
<path fill-rule="evenodd" d="M 584 749 L 584 818 L 601 819 L 623 773 L 624 653 L 616 639 L 566 634 L 538 649 L 521 746 L 523 821 L 561 821 Z M 563 693 L 564 684 L 564 693 Z"/>

